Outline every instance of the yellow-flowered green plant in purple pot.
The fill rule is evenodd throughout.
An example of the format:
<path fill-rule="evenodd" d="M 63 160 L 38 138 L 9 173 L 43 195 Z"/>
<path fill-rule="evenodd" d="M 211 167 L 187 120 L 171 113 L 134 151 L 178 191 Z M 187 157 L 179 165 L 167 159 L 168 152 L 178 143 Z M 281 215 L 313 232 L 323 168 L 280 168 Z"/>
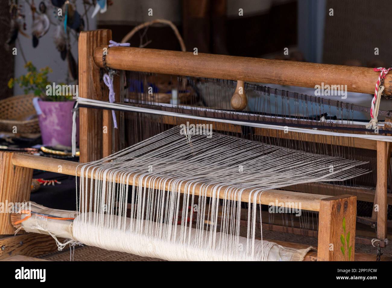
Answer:
<path fill-rule="evenodd" d="M 25 94 L 33 92 L 36 96 L 33 102 L 38 114 L 43 145 L 70 147 L 72 108 L 75 97 L 73 94 L 77 96 L 77 85 L 61 83 L 55 85 L 49 82 L 48 74 L 52 72 L 49 67 L 38 70 L 31 62 L 27 62 L 24 67 L 27 73 L 19 78 L 11 78 L 8 87 L 13 88 L 15 84 L 18 84 L 24 88 Z M 67 89 L 62 89 L 62 87 Z M 69 87 L 74 87 L 74 89 L 69 89 Z M 73 93 L 75 90 L 76 93 Z M 76 141 L 78 141 L 78 136 Z"/>

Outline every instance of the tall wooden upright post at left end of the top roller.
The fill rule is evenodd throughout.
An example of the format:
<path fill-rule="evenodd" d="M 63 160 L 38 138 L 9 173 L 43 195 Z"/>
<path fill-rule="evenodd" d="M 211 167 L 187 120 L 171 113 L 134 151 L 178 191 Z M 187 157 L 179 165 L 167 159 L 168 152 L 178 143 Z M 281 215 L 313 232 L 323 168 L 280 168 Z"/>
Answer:
<path fill-rule="evenodd" d="M 79 34 L 79 96 L 107 101 L 107 89 L 100 81 L 100 69 L 95 65 L 93 53 L 96 47 L 106 45 L 112 39 L 108 29 L 82 31 Z M 100 51 L 102 61 L 103 50 Z M 80 162 L 90 162 L 102 158 L 102 110 L 79 109 L 80 121 Z"/>

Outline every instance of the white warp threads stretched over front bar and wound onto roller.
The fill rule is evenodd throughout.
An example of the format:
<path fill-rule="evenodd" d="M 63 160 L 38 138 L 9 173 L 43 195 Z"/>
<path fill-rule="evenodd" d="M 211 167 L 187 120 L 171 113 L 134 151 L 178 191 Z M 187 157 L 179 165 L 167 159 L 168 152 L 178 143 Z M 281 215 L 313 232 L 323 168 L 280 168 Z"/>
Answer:
<path fill-rule="evenodd" d="M 101 160 L 78 165 L 82 214 L 73 223 L 77 241 L 167 260 L 300 260 L 306 249 L 289 251 L 263 241 L 256 230 L 256 215 L 261 218 L 256 203 L 262 192 L 301 183 L 343 181 L 370 172 L 359 167 L 367 162 L 218 133 L 211 139 L 192 135 L 189 141 L 179 131 L 174 127 Z M 237 170 L 240 163 L 246 167 L 242 173 Z M 333 172 L 330 165 L 334 165 Z M 88 175 L 95 181 L 89 181 Z M 131 178 L 138 186 L 129 191 Z M 241 237 L 240 201 L 247 188 L 252 189 L 247 237 Z M 132 200 L 129 215 L 128 194 Z M 194 205 L 198 205 L 195 214 Z M 261 240 L 255 239 L 260 236 Z"/>

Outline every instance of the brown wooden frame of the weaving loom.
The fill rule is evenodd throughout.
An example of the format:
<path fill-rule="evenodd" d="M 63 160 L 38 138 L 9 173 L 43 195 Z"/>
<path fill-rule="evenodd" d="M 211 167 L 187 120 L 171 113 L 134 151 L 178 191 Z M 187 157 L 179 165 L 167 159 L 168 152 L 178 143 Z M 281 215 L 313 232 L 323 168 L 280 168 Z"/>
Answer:
<path fill-rule="evenodd" d="M 94 100 L 107 101 L 107 89 L 103 88 L 100 69 L 104 67 L 102 51 L 111 40 L 110 30 L 97 30 L 80 33 L 79 39 L 79 96 Z M 314 87 L 325 84 L 347 83 L 348 91 L 372 94 L 377 73 L 363 67 L 346 67 L 315 63 L 297 63 L 280 60 L 264 60 L 235 56 L 198 54 L 132 47 L 112 47 L 105 57 L 105 64 L 111 69 L 130 70 L 152 73 L 177 74 L 206 78 L 221 78 L 243 82 L 277 83 L 283 85 Z M 216 65 L 220 63 L 220 65 Z M 392 94 L 392 76 L 385 79 L 385 93 Z M 115 78 L 115 92 L 120 94 L 119 79 Z M 237 87 L 237 88 L 238 88 Z M 246 97 L 236 90 L 232 98 L 232 107 L 241 110 L 246 106 Z M 118 130 L 114 130 L 111 111 L 80 107 L 80 161 L 95 161 L 119 149 Z M 108 133 L 102 133 L 102 127 L 108 127 Z M 263 135 L 265 129 L 256 129 Z M 296 133 L 296 132 L 294 132 Z M 293 133 L 293 134 L 294 134 Z M 294 136 L 295 137 L 295 134 Z M 305 135 L 304 137 L 307 137 Z M 342 138 L 345 145 L 346 138 Z M 330 139 L 330 138 L 329 138 Z M 309 137 L 307 141 L 312 141 Z M 330 140 L 332 141 L 332 140 Z M 347 141 L 350 141 L 348 139 Z M 341 254 L 339 248 L 331 250 L 331 244 L 340 246 L 342 221 L 345 219 L 347 232 L 356 234 L 356 201 L 357 197 L 377 203 L 379 210 L 373 221 L 377 222 L 377 238 L 387 239 L 387 205 L 392 199 L 387 195 L 387 167 L 390 158 L 390 143 L 369 139 L 357 139 L 359 147 L 377 150 L 377 186 L 376 191 L 357 191 L 357 196 L 341 195 L 330 197 L 320 195 L 322 192 L 302 193 L 301 187 L 293 191 L 269 190 L 262 194 L 260 204 L 271 202 L 287 203 L 300 201 L 304 210 L 319 212 L 318 251 L 309 252 L 306 260 L 345 261 L 370 260 L 370 255 L 352 253 L 350 259 Z M 0 201 L 22 202 L 29 199 L 29 188 L 33 169 L 75 175 L 77 163 L 58 159 L 42 158 L 25 154 L 2 152 L 0 155 Z M 80 170 L 77 171 L 80 174 Z M 131 185 L 138 185 L 130 183 Z M 325 189 L 328 189 L 326 184 Z M 343 191 L 343 190 L 342 190 Z M 347 191 L 344 190 L 344 191 Z M 249 193 L 249 191 L 248 191 Z M 196 192 L 197 194 L 197 192 Z M 345 194 L 345 193 L 342 193 Z M 223 195 L 221 195 L 223 197 Z M 375 199 L 373 199 L 373 197 Z M 246 201 L 247 194 L 243 194 Z M 366 220 L 364 220 L 366 221 Z M 371 222 L 370 220 L 369 222 Z M 283 232 L 288 227 L 276 227 Z M 9 214 L 0 214 L 0 235 L 11 235 L 15 228 L 11 225 Z M 295 233 L 295 232 L 294 232 Z M 354 252 L 355 238 L 351 237 L 350 245 Z M 365 241 L 364 239 L 361 241 Z M 277 242 L 277 241 L 274 241 Z M 279 242 L 279 241 L 278 241 Z M 363 242 L 362 242 L 363 243 Z M 378 241 L 383 247 L 386 241 Z M 278 243 L 279 244 L 279 243 Z M 288 247 L 301 247 L 293 243 L 281 243 Z M 35 256 L 57 249 L 53 239 L 45 235 L 21 234 L 15 237 L 0 238 L 0 259 L 16 254 Z"/>

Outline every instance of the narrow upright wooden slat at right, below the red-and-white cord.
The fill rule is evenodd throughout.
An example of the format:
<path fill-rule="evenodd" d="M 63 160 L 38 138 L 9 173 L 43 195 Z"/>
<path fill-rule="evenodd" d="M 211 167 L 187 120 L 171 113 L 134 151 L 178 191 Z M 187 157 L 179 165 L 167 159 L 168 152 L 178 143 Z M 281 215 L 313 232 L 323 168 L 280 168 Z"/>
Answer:
<path fill-rule="evenodd" d="M 377 184 L 375 205 L 378 205 L 377 212 L 377 239 L 384 240 L 387 238 L 387 180 L 388 180 L 388 144 L 387 142 L 377 141 Z M 373 208 L 374 209 L 374 208 Z"/>

